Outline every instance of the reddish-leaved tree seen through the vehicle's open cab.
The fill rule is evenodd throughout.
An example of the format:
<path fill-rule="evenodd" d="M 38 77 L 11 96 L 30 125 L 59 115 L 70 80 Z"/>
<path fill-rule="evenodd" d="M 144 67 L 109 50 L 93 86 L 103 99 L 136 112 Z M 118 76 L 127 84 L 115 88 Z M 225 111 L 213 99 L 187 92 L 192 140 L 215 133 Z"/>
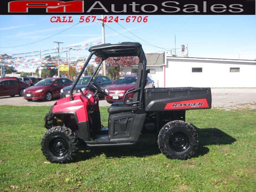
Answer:
<path fill-rule="evenodd" d="M 96 57 L 95 62 L 99 64 L 101 61 L 101 58 Z M 136 65 L 139 63 L 139 58 L 137 57 L 120 57 L 118 59 L 110 57 L 106 60 L 106 70 L 108 73 L 108 76 L 112 79 L 118 78 L 118 72 L 120 70 L 120 67 L 131 67 L 132 65 Z"/>

